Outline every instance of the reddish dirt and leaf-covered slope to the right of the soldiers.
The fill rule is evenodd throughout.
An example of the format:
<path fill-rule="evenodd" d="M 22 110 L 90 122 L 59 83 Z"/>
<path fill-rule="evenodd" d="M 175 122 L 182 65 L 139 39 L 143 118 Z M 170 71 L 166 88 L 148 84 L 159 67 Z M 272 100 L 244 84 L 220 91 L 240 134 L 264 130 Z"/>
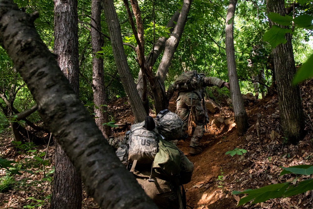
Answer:
<path fill-rule="evenodd" d="M 207 130 L 201 140 L 203 152 L 198 155 L 189 154 L 191 134 L 186 142 L 179 141 L 177 146 L 194 163 L 194 172 L 191 182 L 184 185 L 186 190 L 187 206 L 194 209 L 236 208 L 241 196 L 232 195 L 233 190 L 244 191 L 256 189 L 275 183 L 293 180 L 295 176 L 284 175 L 279 177 L 282 169 L 279 166 L 292 166 L 311 164 L 312 150 L 312 125 L 310 114 L 313 112 L 313 81 L 306 82 L 302 88 L 303 108 L 305 111 L 306 130 L 308 134 L 296 146 L 284 144 L 284 138 L 278 135 L 270 138 L 272 130 L 281 134 L 279 125 L 279 107 L 277 95 L 266 96 L 254 103 L 245 104 L 249 117 L 249 129 L 243 136 L 238 136 L 235 124 L 222 123 L 220 128 L 208 124 Z M 169 110 L 176 111 L 175 95 L 169 104 Z M 114 102 L 114 107 L 121 107 L 124 100 Z M 233 117 L 233 111 L 225 100 L 221 101 L 221 109 L 216 114 L 209 114 L 210 121 L 216 118 Z M 109 106 L 110 107 L 110 106 Z M 114 112 L 114 111 L 113 111 Z M 259 137 L 255 128 L 257 115 L 261 114 Z M 117 113 L 119 114 L 119 113 Z M 155 116 L 151 113 L 152 117 Z M 275 117 L 276 116 L 276 117 Z M 133 123 L 133 117 L 124 115 L 126 121 Z M 124 123 L 121 119 L 119 123 Z M 234 126 L 234 127 L 233 127 Z M 117 131 L 118 132 L 118 131 Z M 242 156 L 231 157 L 225 153 L 235 148 L 246 149 Z M 310 178 L 305 176 L 298 181 Z M 222 179 L 222 180 L 219 180 Z M 288 198 L 277 198 L 237 208 L 313 208 L 313 192 Z M 188 207 L 187 207 L 188 208 Z"/>

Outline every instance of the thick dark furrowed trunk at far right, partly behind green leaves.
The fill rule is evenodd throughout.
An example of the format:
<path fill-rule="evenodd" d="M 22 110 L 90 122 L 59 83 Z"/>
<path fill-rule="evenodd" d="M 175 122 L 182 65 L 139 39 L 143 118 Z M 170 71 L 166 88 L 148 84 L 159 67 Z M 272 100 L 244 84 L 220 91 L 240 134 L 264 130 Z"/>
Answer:
<path fill-rule="evenodd" d="M 284 0 L 266 0 L 266 7 L 268 13 L 275 12 L 285 16 Z M 274 24 L 278 25 L 269 20 L 270 27 Z M 279 99 L 280 124 L 288 140 L 292 144 L 297 144 L 304 133 L 304 113 L 301 107 L 299 86 L 292 86 L 291 83 L 296 72 L 291 34 L 285 34 L 285 38 L 287 40 L 285 44 L 279 44 L 273 49 L 274 71 Z"/>

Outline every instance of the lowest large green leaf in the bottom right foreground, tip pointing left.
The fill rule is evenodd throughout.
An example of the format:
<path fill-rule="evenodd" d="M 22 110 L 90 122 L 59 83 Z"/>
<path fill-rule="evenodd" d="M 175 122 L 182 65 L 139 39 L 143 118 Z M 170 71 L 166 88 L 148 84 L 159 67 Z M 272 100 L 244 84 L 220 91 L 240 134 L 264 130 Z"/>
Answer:
<path fill-rule="evenodd" d="M 248 196 L 241 198 L 237 206 L 241 206 L 253 199 L 254 201 L 252 202 L 252 204 L 254 204 L 283 196 L 289 184 L 290 182 L 285 182 L 282 184 L 272 184 L 255 190 L 249 189 L 243 192 L 233 191 L 232 194 L 249 194 Z"/>

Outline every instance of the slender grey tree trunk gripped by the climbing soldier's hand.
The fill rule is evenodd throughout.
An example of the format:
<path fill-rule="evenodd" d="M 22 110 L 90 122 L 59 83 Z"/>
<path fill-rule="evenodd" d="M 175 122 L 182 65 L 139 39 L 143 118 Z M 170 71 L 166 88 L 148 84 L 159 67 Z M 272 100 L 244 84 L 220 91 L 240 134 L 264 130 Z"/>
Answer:
<path fill-rule="evenodd" d="M 233 18 L 236 10 L 237 0 L 230 0 L 226 16 L 225 29 L 225 45 L 226 45 L 226 60 L 228 69 L 228 79 L 231 90 L 231 98 L 235 115 L 235 123 L 239 135 L 246 133 L 248 129 L 248 115 L 244 108 L 244 101 L 241 96 L 240 87 L 237 77 L 234 37 L 233 37 Z"/>

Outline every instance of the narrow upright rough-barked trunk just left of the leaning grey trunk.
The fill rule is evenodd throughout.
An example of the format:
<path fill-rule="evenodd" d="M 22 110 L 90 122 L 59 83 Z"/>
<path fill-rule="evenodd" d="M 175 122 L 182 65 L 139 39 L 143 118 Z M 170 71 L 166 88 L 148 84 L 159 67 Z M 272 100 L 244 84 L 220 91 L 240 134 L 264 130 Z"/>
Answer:
<path fill-rule="evenodd" d="M 91 24 L 101 31 L 101 0 L 92 0 L 91 2 Z M 101 50 L 103 45 L 103 36 L 96 29 L 91 27 L 91 48 L 92 48 L 92 89 L 94 92 L 94 111 L 95 122 L 102 132 L 103 136 L 108 138 L 110 136 L 110 127 L 102 125 L 108 122 L 106 93 L 104 84 L 104 68 L 103 59 L 97 58 L 96 53 Z"/>

